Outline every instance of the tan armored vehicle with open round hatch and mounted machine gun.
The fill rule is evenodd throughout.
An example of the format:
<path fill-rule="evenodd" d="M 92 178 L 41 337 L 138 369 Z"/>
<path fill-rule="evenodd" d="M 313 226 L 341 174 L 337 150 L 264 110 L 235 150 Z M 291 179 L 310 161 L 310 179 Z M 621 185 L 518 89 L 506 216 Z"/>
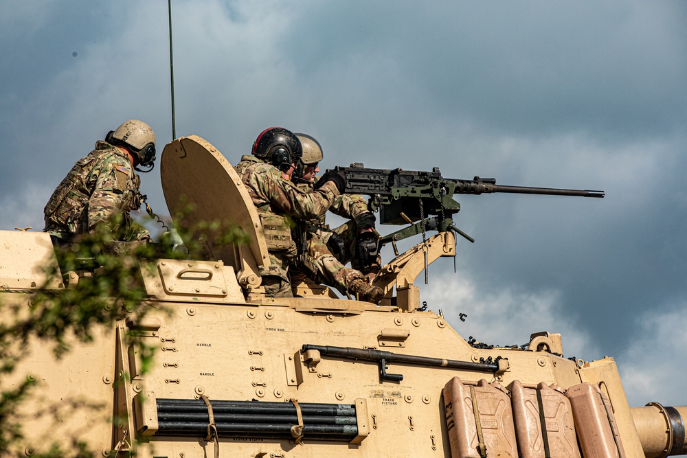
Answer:
<path fill-rule="evenodd" d="M 382 242 L 396 248 L 397 240 L 420 234 L 423 241 L 376 276 L 385 291 L 379 305 L 339 299 L 311 282 L 293 285 L 294 298 L 270 299 L 258 274 L 269 263 L 262 226 L 232 165 L 200 137 L 168 144 L 161 177 L 170 212 L 194 204 L 177 224 L 216 223 L 194 226 L 199 245 L 186 259 L 136 267 L 144 314 L 123 309 L 112 324 L 94 323 L 91 341 L 65 336 L 73 342 L 61 358 L 39 336 L 17 343 L 21 359 L 0 385 L 3 393 L 31 385 L 31 396 L 12 412 L 22 435 L 6 451 L 168 458 L 687 453 L 687 407 L 630 407 L 613 358 L 567 359 L 553 332 L 532 334 L 524 347 L 478 345 L 420 306 L 418 275 L 439 257 L 455 256 L 454 193 L 539 191 L 442 179 L 438 170 L 352 167 L 347 176 L 350 192 L 372 196 L 382 223 L 407 224 Z M 227 227 L 240 227 L 248 242 L 218 243 Z M 58 275 L 47 275 L 46 266 Z M 66 294 L 106 275 L 60 268 L 47 234 L 0 231 L 2 322 L 21 322 L 39 292 Z M 117 300 L 105 307 L 119 307 Z"/>

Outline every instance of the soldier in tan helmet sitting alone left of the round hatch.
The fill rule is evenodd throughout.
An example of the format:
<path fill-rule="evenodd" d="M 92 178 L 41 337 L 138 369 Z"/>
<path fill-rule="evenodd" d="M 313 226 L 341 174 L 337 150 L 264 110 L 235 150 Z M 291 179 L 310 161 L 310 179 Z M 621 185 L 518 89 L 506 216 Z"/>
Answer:
<path fill-rule="evenodd" d="M 130 119 L 111 130 L 53 192 L 43 210 L 43 231 L 60 244 L 96 229 L 109 231 L 115 241 L 147 240 L 148 230 L 133 222 L 129 211 L 141 207 L 134 169 L 152 170 L 154 161 L 155 133 L 148 124 Z"/>

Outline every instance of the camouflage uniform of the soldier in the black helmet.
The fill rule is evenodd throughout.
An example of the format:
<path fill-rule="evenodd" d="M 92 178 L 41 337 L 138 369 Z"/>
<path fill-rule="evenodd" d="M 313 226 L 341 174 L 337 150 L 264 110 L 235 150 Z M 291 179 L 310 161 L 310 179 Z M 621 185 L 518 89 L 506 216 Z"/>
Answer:
<path fill-rule="evenodd" d="M 266 293 L 271 297 L 291 297 L 289 264 L 297 257 L 291 237 L 293 218 L 309 220 L 324 215 L 339 196 L 339 190 L 335 183 L 328 182 L 317 191 L 303 192 L 283 179 L 280 170 L 254 156 L 241 157 L 236 172 L 258 209 L 267 242 L 271 265 L 259 269 Z"/>

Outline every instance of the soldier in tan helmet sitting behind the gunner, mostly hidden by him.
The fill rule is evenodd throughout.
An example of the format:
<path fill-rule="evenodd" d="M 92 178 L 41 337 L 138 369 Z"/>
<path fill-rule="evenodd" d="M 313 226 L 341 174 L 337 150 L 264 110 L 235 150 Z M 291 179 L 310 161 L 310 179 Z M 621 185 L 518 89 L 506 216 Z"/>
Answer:
<path fill-rule="evenodd" d="M 324 155 L 316 139 L 301 133 L 296 136 L 303 148 L 301 161 L 304 163 L 304 173 L 295 181 L 299 189 L 308 192 L 317 186 L 318 163 Z M 297 279 L 304 273 L 317 283 L 334 286 L 342 294 L 348 293 L 351 284 L 359 284 L 356 293 L 361 299 L 379 303 L 383 290 L 361 283 L 363 273 L 376 273 L 381 266 L 374 234 L 374 215 L 363 196 L 357 194 L 342 194 L 329 209 L 349 221 L 333 230 L 326 225 L 324 214 L 299 222 L 296 239 L 304 244 L 304 248 L 301 249 L 298 268 L 291 273 L 292 277 Z M 345 266 L 349 261 L 353 268 Z"/>

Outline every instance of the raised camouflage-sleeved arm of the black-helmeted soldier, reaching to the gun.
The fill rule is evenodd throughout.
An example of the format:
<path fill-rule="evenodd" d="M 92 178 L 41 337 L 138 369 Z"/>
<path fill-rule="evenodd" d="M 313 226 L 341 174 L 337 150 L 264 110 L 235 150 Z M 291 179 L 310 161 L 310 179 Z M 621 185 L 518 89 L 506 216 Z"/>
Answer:
<path fill-rule="evenodd" d="M 303 192 L 276 174 L 265 174 L 259 185 L 271 205 L 294 218 L 304 220 L 325 214 L 339 196 L 339 190 L 333 181 L 324 183 L 318 190 Z"/>

